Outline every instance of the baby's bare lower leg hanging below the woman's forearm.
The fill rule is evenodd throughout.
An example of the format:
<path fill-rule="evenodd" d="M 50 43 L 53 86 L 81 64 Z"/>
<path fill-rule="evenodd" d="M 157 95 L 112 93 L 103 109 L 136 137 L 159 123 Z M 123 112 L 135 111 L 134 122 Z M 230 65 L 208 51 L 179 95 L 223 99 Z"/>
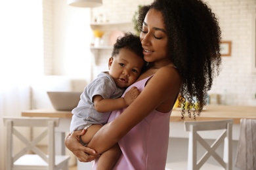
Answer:
<path fill-rule="evenodd" d="M 121 149 L 116 143 L 114 146 L 112 146 L 112 148 L 110 148 L 100 156 L 97 163 L 97 170 L 113 169 L 120 156 Z"/>

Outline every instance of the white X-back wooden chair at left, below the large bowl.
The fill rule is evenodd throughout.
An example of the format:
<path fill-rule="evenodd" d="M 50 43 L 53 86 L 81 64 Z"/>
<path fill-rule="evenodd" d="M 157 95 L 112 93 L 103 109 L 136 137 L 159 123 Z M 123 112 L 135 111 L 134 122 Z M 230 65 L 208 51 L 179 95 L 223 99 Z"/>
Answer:
<path fill-rule="evenodd" d="M 68 160 L 70 156 L 55 156 L 54 127 L 58 126 L 58 118 L 26 118 L 26 117 L 5 117 L 3 118 L 7 126 L 7 152 L 6 169 L 24 169 L 24 170 L 68 170 Z M 18 127 L 47 127 L 35 139 L 28 139 L 19 132 Z M 48 135 L 48 154 L 45 154 L 37 147 L 37 144 Z M 14 154 L 13 138 L 17 137 L 25 144 L 24 148 Z M 32 154 L 29 154 L 32 152 Z"/>

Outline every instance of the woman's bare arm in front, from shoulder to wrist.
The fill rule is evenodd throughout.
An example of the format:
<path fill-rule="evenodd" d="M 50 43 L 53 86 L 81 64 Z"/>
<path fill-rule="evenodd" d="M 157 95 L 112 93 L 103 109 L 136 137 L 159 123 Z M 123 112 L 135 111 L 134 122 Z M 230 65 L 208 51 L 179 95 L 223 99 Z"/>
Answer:
<path fill-rule="evenodd" d="M 115 120 L 104 125 L 88 144 L 97 153 L 113 146 L 134 126 L 139 124 L 152 110 L 168 112 L 181 88 L 181 77 L 174 67 L 162 67 L 150 79 L 140 95 Z M 166 106 L 169 108 L 166 110 Z M 162 108 L 165 108 L 162 109 Z"/>

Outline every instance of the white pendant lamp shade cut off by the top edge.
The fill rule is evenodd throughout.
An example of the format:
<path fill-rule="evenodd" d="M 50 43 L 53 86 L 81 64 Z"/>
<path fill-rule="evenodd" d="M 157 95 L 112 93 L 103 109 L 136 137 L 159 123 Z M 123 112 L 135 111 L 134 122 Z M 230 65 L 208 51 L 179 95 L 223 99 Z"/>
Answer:
<path fill-rule="evenodd" d="M 93 8 L 102 5 L 102 0 L 68 0 L 68 5 L 73 7 Z"/>

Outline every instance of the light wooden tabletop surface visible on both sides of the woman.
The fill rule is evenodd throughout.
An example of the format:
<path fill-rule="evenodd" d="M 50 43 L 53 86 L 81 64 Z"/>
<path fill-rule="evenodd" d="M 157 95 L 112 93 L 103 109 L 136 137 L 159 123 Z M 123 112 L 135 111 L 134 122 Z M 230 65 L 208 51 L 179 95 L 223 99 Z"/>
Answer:
<path fill-rule="evenodd" d="M 193 112 L 191 112 L 193 114 Z M 31 117 L 54 117 L 54 118 L 72 118 L 71 111 L 60 111 L 54 109 L 34 109 L 22 112 L 22 116 Z M 181 119 L 181 109 L 173 109 L 171 113 L 171 122 L 192 121 L 194 118 L 188 118 L 188 113 Z M 241 118 L 256 119 L 256 107 L 253 106 L 229 106 L 229 105 L 207 105 L 204 107 L 200 116 L 196 120 L 219 120 L 233 119 L 234 124 L 240 124 Z"/>

